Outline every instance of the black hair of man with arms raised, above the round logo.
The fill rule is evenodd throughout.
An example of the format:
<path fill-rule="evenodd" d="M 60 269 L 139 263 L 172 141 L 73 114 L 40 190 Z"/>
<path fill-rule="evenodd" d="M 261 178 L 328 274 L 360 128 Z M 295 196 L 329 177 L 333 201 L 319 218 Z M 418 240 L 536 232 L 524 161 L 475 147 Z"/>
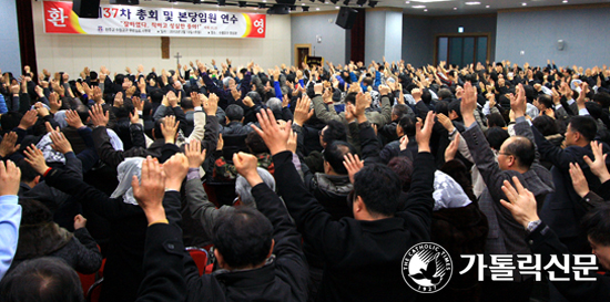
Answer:
<path fill-rule="evenodd" d="M 365 166 L 354 176 L 354 194 L 362 197 L 372 215 L 393 216 L 401 187 L 398 175 L 380 164 Z"/>

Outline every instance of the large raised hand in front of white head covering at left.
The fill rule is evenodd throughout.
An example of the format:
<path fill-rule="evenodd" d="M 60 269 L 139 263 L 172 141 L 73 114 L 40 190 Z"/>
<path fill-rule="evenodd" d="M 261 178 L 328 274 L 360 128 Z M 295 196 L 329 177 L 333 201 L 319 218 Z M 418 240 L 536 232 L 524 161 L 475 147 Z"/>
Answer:
<path fill-rule="evenodd" d="M 163 196 L 165 195 L 165 173 L 156 158 L 150 156 L 142 162 L 142 180 L 133 176 L 131 186 L 133 197 L 144 211 L 149 226 L 153 223 L 167 223 L 165 209 L 163 208 Z"/>

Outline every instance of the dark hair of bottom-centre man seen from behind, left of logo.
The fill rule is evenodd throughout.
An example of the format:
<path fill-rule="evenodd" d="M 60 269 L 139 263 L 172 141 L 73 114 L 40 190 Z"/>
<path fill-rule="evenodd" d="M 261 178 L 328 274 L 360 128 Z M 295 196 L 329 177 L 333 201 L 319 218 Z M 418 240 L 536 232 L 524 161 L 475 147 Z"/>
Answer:
<path fill-rule="evenodd" d="M 261 264 L 271 249 L 273 226 L 260 211 L 238 207 L 214 223 L 212 242 L 233 269 Z"/>

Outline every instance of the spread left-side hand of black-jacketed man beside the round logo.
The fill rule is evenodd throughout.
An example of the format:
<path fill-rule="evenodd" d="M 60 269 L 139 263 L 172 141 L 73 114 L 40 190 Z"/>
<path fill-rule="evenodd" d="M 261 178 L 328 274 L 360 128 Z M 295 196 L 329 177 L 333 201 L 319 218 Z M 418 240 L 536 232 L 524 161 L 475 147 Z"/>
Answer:
<path fill-rule="evenodd" d="M 279 125 L 275 121 L 275 116 L 271 110 L 261 111 L 256 114 L 261 128 L 252 125 L 254 131 L 261 135 L 261 138 L 265 142 L 270 148 L 271 155 L 276 155 L 281 152 L 287 150 L 288 136 L 291 135 L 292 121 L 286 123 L 284 129 L 279 129 Z"/>

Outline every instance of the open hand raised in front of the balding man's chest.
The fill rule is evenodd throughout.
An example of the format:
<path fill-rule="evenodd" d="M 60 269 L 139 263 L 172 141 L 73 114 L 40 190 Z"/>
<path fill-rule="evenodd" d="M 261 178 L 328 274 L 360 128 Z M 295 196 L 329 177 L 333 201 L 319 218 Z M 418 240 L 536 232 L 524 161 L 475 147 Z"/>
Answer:
<path fill-rule="evenodd" d="M 515 220 L 527 229 L 529 222 L 540 220 L 538 214 L 536 214 L 536 197 L 521 186 L 519 178 L 516 176 L 512 177 L 512 183 L 515 187 L 508 180 L 505 180 L 502 191 L 508 201 L 502 199 L 500 202 L 512 214 Z"/>

